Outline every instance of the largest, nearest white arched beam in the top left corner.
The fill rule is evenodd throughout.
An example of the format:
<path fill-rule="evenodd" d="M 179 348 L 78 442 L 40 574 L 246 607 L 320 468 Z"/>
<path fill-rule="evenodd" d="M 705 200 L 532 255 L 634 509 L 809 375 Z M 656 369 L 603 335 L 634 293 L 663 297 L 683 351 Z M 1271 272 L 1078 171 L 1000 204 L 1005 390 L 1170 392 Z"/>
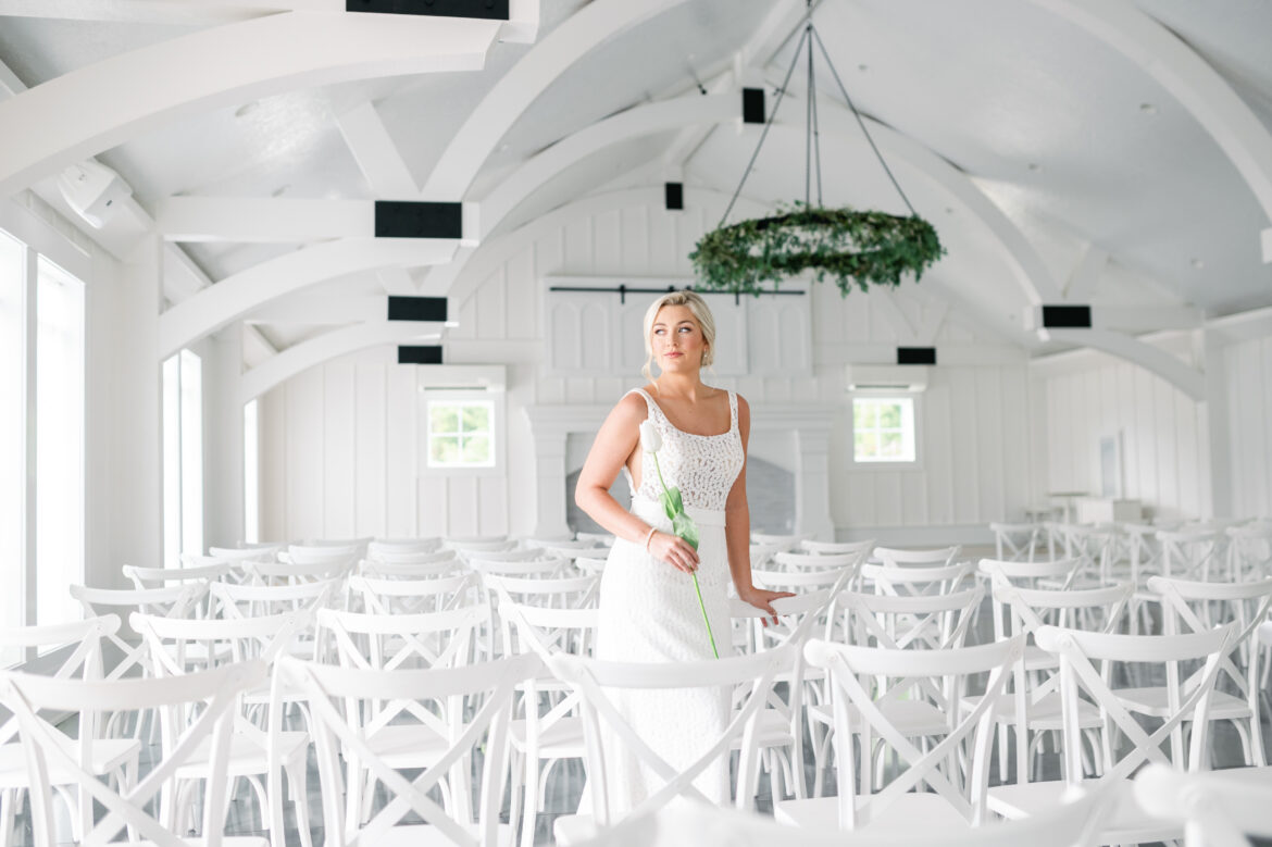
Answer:
<path fill-rule="evenodd" d="M 478 70 L 499 31 L 497 20 L 291 11 L 106 59 L 0 103 L 0 197 L 181 114 L 346 80 Z"/>

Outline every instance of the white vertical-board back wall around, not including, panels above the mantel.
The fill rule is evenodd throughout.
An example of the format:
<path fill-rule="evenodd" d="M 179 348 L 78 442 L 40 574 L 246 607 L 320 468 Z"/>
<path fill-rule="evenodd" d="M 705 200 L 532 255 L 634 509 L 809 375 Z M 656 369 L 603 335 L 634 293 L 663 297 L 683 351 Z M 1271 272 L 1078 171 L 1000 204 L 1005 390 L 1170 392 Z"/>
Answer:
<path fill-rule="evenodd" d="M 656 200 L 653 200 L 656 198 Z M 459 328 L 445 341 L 448 362 L 509 364 L 508 454 L 486 477 L 421 478 L 422 431 L 413 366 L 380 350 L 328 362 L 262 401 L 262 534 L 343 538 L 416 534 L 528 534 L 536 524 L 534 445 L 524 410 L 532 404 L 612 404 L 642 380 L 639 368 L 605 375 L 553 375 L 546 366 L 546 277 L 692 277 L 695 242 L 719 220 L 719 200 L 667 212 L 660 192 L 641 202 L 576 219 L 552 216 L 485 245 L 500 256 L 482 268 L 471 296 L 452 300 Z M 476 280 L 474 280 L 476 281 Z M 460 280 L 463 282 L 463 280 Z M 887 300 L 885 300 L 887 298 Z M 721 308 L 733 308 L 731 301 Z M 1019 518 L 1034 490 L 1024 354 L 985 337 L 921 285 L 895 295 L 813 286 L 813 368 L 803 375 L 709 375 L 752 407 L 791 403 L 840 410 L 831 445 L 831 509 L 843 530 L 871 527 L 983 525 Z M 936 320 L 934 320 L 934 314 Z M 639 322 L 640 315 L 631 318 Z M 937 326 L 920 340 L 920 327 Z M 781 332 L 801 332 L 778 323 Z M 804 340 L 806 343 L 806 340 Z M 1006 350 L 981 366 L 939 366 L 920 401 L 922 459 L 912 471 L 857 469 L 850 460 L 850 397 L 843 365 L 862 346 L 936 343 Z M 639 351 L 637 351 L 639 352 Z M 628 356 L 628 361 L 633 357 Z M 635 360 L 642 360 L 636 356 Z M 781 463 L 781 449 L 766 450 Z M 789 469 L 794 454 L 787 457 Z"/>

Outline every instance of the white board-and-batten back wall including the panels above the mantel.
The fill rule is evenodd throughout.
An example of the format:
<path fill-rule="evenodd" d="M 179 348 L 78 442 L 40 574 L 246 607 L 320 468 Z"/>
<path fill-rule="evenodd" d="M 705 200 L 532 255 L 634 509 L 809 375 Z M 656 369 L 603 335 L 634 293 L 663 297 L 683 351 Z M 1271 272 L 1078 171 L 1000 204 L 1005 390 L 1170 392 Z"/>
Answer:
<path fill-rule="evenodd" d="M 426 368 L 396 364 L 392 348 L 333 360 L 273 389 L 261 407 L 263 537 L 532 534 L 541 505 L 528 410 L 609 408 L 640 385 L 641 317 L 656 296 L 621 303 L 617 294 L 548 289 L 665 289 L 691 280 L 687 254 L 720 209 L 693 207 L 689 198 L 691 207 L 677 212 L 636 202 L 547 216 L 483 245 L 497 261 L 474 259 L 481 277 L 457 282 L 467 295 L 452 300 L 459 327 L 443 341 L 445 361 L 506 365 L 506 450 L 495 473 L 427 473 Z M 707 382 L 747 397 L 757 420 L 798 408 L 829 421 L 820 460 L 837 535 L 930 525 L 946 537 L 983 530 L 991 520 L 1018 518 L 1040 488 L 1024 352 L 963 320 L 921 284 L 847 298 L 822 284 L 804 296 L 711 303 L 720 356 Z M 916 337 L 918 327 L 929 337 Z M 932 369 L 918 396 L 918 462 L 855 465 L 845 365 L 887 362 L 895 346 L 916 343 L 965 362 Z M 794 472 L 792 440 L 778 427 L 757 429 L 752 449 Z M 579 451 L 571 453 L 577 463 Z"/>

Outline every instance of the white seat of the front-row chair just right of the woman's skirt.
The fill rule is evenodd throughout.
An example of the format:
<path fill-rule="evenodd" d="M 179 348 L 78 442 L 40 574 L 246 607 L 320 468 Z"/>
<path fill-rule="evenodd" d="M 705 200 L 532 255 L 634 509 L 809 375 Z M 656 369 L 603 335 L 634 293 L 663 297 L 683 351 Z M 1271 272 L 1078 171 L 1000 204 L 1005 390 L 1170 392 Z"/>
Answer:
<path fill-rule="evenodd" d="M 857 809 L 864 805 L 857 797 Z M 854 832 L 895 839 L 897 843 L 921 844 L 937 834 L 972 829 L 972 824 L 939 794 L 912 791 L 879 813 Z M 773 820 L 813 832 L 834 832 L 840 828 L 840 799 L 781 800 L 773 804 Z"/>

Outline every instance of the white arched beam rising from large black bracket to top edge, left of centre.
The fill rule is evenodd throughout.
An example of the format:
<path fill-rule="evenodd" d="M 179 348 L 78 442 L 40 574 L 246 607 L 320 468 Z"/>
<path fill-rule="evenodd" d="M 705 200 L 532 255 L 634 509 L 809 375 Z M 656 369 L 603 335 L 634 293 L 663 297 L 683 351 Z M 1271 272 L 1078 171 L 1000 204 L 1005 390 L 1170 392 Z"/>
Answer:
<path fill-rule="evenodd" d="M 450 139 L 424 186 L 424 196 L 464 198 L 495 145 L 523 112 L 579 59 L 607 38 L 686 0 L 593 0 L 527 52 L 486 93 Z"/>

